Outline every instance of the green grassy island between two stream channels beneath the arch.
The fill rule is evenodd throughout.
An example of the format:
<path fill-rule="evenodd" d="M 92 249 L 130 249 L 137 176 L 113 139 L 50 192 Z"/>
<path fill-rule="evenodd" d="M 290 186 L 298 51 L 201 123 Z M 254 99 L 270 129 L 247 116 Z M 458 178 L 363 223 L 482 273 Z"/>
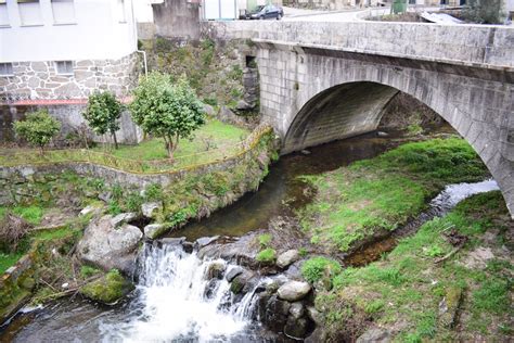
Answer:
<path fill-rule="evenodd" d="M 407 143 L 375 158 L 306 177 L 318 192 L 300 213 L 301 226 L 320 250 L 346 253 L 420 214 L 446 185 L 487 176 L 462 139 Z"/>

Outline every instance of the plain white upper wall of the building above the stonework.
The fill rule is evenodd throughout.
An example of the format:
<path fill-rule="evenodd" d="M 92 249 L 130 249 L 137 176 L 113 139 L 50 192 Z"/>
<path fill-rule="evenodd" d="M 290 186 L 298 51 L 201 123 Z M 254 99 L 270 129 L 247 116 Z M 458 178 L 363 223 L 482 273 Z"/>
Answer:
<path fill-rule="evenodd" d="M 9 26 L 0 28 L 0 62 L 117 60 L 137 48 L 132 0 L 121 18 L 117 0 L 76 0 L 75 18 L 55 23 L 50 0 L 39 1 L 40 21 L 24 25 L 20 3 L 7 1 Z"/>

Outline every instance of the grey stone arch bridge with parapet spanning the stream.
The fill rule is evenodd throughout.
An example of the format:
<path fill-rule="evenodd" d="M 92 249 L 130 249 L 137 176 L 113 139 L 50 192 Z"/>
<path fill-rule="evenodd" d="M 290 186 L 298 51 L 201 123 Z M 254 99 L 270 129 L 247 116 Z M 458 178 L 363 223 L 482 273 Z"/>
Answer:
<path fill-rule="evenodd" d="M 464 137 L 514 218 L 514 29 L 412 23 L 209 22 L 257 45 L 260 112 L 282 152 L 376 129 L 398 92 Z"/>

